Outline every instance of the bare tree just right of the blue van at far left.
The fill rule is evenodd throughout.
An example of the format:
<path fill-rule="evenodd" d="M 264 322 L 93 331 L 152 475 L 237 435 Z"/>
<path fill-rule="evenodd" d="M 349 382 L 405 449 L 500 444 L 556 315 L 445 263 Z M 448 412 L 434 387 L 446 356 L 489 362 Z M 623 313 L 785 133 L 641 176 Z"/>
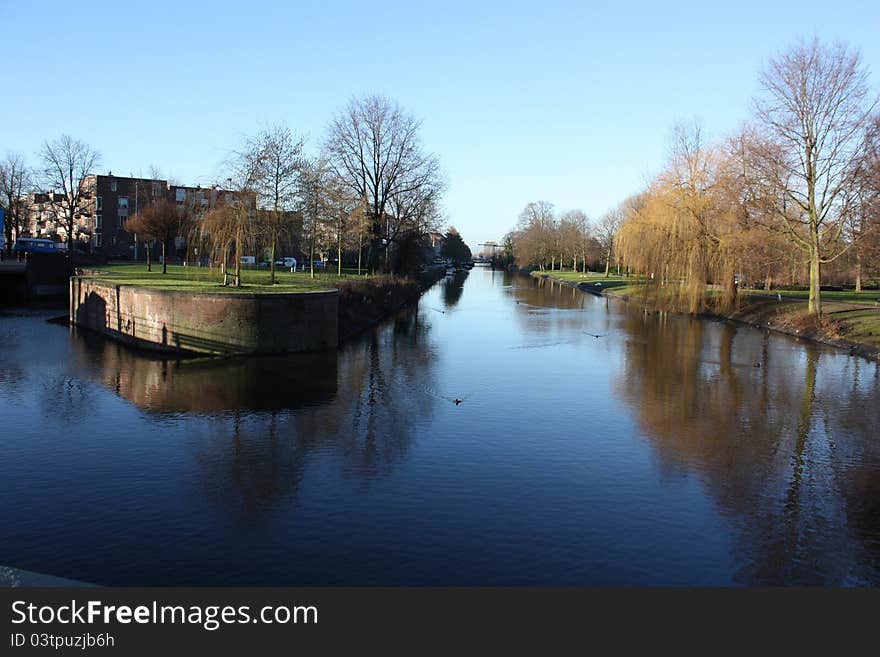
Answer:
<path fill-rule="evenodd" d="M 83 185 L 83 179 L 100 164 L 101 156 L 83 142 L 62 135 L 53 142 L 45 142 L 40 157 L 44 185 L 55 192 L 51 195 L 52 205 L 64 221 L 70 257 L 73 255 L 76 220 L 88 208 L 91 198 L 91 190 Z"/>

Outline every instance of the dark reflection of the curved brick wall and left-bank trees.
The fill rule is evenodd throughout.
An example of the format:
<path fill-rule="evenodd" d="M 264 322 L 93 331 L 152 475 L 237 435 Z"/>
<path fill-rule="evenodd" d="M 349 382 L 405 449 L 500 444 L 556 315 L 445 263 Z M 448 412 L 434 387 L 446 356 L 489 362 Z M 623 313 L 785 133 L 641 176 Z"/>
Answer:
<path fill-rule="evenodd" d="M 418 394 L 433 363 L 425 328 L 409 310 L 341 352 L 190 361 L 97 336 L 78 344 L 100 363 L 101 383 L 154 417 L 157 431 L 165 418 L 193 418 L 200 487 L 250 522 L 296 495 L 310 452 L 338 454 L 365 484 L 406 455 L 436 403 Z"/>

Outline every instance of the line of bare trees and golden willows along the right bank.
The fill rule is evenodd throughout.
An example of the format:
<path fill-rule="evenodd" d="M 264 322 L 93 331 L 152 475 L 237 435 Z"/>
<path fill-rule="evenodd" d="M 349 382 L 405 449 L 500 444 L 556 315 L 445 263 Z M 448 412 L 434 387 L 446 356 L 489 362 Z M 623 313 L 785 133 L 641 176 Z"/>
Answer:
<path fill-rule="evenodd" d="M 582 213 L 529 204 L 510 236 L 517 259 L 552 269 L 592 254 L 606 274 L 616 260 L 692 312 L 761 281 L 806 283 L 819 315 L 823 281 L 876 282 L 880 116 L 859 54 L 814 39 L 760 82 L 749 123 L 714 143 L 696 123 L 676 126 L 663 170 L 592 230 Z"/>

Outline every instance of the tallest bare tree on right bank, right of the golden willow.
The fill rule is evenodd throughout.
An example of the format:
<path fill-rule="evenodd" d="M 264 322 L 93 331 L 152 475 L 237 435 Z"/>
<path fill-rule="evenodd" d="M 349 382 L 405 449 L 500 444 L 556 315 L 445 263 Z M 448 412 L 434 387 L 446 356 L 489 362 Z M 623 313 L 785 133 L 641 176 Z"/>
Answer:
<path fill-rule="evenodd" d="M 808 312 L 822 312 L 821 266 L 851 245 L 841 239 L 857 201 L 855 178 L 869 154 L 864 128 L 877 100 L 857 52 L 817 39 L 771 60 L 756 101 L 765 141 L 752 172 L 772 213 L 807 254 Z"/>

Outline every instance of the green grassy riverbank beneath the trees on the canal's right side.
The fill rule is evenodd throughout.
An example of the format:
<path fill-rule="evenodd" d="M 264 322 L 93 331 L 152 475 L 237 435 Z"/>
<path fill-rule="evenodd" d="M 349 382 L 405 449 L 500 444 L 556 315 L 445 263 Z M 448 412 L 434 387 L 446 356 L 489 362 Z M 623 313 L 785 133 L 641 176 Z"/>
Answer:
<path fill-rule="evenodd" d="M 592 272 L 535 271 L 532 276 L 548 276 L 567 283 L 587 283 L 594 285 L 597 290 L 626 296 L 646 292 L 645 286 L 634 279 L 606 278 Z M 774 290 L 770 293 L 743 290 L 735 311 L 716 316 L 850 349 L 870 358 L 880 358 L 880 292 L 822 292 L 823 316 L 818 321 L 807 313 L 808 296 L 807 291 L 801 290 Z M 639 298 L 647 299 L 645 295 L 639 295 Z"/>

